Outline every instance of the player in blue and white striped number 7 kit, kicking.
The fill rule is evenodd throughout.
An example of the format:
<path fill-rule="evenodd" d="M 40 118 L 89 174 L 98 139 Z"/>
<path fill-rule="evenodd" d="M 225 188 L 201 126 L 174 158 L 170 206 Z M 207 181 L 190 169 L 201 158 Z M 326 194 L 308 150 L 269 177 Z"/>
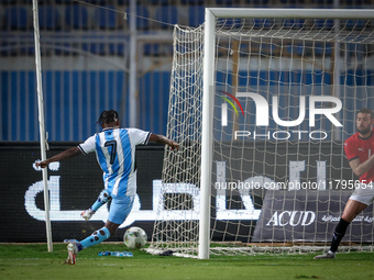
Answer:
<path fill-rule="evenodd" d="M 50 163 L 95 152 L 103 171 L 105 191 L 100 195 L 112 200 L 108 221 L 102 228 L 87 238 L 80 242 L 70 240 L 67 245 L 68 257 L 65 261 L 68 265 L 76 264 L 78 251 L 100 244 L 112 236 L 130 214 L 136 193 L 135 146 L 146 145 L 148 141 L 152 141 L 166 144 L 172 149 L 178 149 L 178 144 L 165 136 L 136 128 L 120 128 L 119 115 L 114 110 L 103 111 L 98 123 L 101 124 L 102 132 L 89 137 L 77 147 L 36 163 L 36 166 L 45 168 Z"/>

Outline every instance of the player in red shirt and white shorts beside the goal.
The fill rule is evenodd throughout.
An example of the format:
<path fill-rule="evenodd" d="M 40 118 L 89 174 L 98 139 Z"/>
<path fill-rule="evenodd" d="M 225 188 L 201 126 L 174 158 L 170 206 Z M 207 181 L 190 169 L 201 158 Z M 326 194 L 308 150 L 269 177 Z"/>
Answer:
<path fill-rule="evenodd" d="M 363 108 L 356 116 L 358 132 L 344 142 L 345 156 L 353 172 L 360 177 L 360 184 L 348 200 L 343 214 L 332 235 L 330 250 L 315 259 L 333 259 L 346 227 L 374 199 L 374 115 Z"/>

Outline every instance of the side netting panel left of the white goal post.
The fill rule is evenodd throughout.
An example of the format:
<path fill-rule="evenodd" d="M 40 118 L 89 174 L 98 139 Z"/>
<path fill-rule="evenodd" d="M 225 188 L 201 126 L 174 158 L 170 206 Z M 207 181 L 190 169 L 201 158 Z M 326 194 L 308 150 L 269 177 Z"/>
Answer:
<path fill-rule="evenodd" d="M 198 239 L 201 158 L 202 27 L 174 30 L 167 137 L 180 144 L 177 153 L 165 149 L 163 188 L 151 248 L 172 247 L 193 253 Z M 178 93 L 176 93 L 178 92 Z"/>

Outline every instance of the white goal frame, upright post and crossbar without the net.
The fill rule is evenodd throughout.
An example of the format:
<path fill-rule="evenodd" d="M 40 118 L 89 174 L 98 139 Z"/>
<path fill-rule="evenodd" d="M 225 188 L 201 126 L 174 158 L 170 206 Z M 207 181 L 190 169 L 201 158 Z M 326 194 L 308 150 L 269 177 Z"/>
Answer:
<path fill-rule="evenodd" d="M 374 10 L 206 8 L 198 258 L 209 258 L 216 19 L 374 19 Z"/>

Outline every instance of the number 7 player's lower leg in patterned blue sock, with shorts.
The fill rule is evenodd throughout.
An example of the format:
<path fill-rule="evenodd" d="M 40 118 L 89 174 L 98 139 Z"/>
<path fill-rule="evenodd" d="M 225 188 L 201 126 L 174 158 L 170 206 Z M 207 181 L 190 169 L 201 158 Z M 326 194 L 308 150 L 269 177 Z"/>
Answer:
<path fill-rule="evenodd" d="M 66 264 L 75 265 L 78 251 L 102 243 L 112 236 L 117 228 L 124 222 L 131 212 L 134 202 L 134 197 L 113 198 L 110 205 L 109 217 L 103 227 L 95 231 L 90 236 L 81 242 L 69 243 L 67 246 L 68 258 Z"/>

